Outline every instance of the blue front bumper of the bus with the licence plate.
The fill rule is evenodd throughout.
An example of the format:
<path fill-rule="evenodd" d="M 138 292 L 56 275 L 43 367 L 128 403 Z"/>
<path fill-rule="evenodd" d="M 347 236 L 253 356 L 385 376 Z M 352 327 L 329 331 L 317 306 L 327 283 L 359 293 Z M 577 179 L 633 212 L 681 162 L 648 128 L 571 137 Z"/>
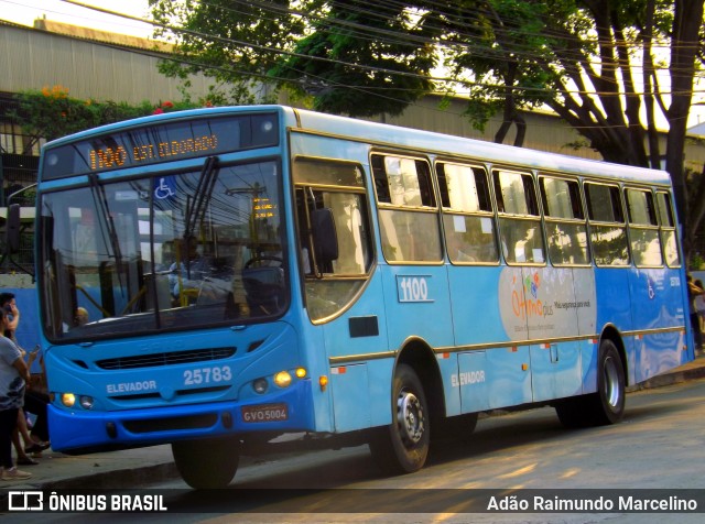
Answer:
<path fill-rule="evenodd" d="M 131 411 L 93 412 L 48 405 L 52 449 L 69 454 L 154 446 L 176 440 L 258 432 L 314 429 L 311 381 L 260 402 L 213 402 Z"/>

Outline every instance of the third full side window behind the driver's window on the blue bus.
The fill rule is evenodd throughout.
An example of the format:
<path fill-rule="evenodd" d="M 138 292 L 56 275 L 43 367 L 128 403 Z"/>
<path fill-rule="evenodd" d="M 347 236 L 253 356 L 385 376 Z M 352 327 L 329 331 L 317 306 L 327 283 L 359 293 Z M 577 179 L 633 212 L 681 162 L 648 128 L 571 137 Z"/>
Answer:
<path fill-rule="evenodd" d="M 492 174 L 505 260 L 509 264 L 543 264 L 543 230 L 533 177 L 506 170 L 494 170 Z"/>

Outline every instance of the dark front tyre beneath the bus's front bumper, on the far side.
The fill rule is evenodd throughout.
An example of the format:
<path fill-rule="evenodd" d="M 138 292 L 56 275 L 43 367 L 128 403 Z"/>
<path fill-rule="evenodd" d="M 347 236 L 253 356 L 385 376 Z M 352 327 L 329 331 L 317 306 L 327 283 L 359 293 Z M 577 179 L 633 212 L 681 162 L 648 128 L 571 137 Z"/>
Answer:
<path fill-rule="evenodd" d="M 197 490 L 225 488 L 240 461 L 239 443 L 235 439 L 172 443 L 172 454 L 184 482 Z"/>

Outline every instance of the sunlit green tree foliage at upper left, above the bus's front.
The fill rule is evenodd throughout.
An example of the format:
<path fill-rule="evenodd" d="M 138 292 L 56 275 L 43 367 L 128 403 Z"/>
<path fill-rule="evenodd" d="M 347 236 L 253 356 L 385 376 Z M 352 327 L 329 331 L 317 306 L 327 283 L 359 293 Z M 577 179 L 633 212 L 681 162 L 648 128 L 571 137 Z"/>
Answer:
<path fill-rule="evenodd" d="M 269 84 L 267 72 L 304 31 L 301 17 L 288 12 L 289 3 L 150 0 L 155 21 L 178 28 L 156 32 L 177 50 L 174 59 L 161 62 L 160 72 L 184 85 L 194 74 L 213 78 L 209 98 L 214 105 L 275 101 L 276 91 L 263 84 Z"/>

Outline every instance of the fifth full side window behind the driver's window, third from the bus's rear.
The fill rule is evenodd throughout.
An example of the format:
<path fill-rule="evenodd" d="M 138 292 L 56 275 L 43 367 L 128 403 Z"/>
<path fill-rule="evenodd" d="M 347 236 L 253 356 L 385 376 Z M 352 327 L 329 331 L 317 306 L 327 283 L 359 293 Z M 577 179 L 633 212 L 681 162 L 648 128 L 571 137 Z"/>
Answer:
<path fill-rule="evenodd" d="M 586 182 L 590 247 L 597 265 L 629 265 L 629 243 L 619 187 Z"/>

